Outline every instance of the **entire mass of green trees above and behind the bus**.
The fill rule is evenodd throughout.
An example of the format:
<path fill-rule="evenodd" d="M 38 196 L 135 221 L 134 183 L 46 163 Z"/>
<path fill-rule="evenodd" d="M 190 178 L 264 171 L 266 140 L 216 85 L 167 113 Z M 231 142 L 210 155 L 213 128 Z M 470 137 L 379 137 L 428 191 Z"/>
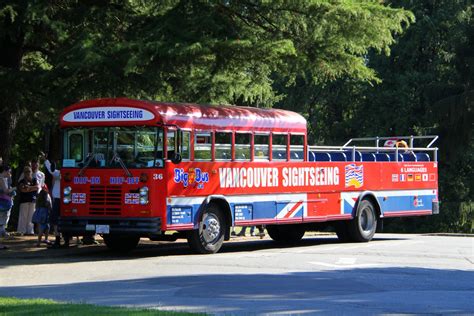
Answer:
<path fill-rule="evenodd" d="M 454 206 L 421 229 L 469 226 L 467 1 L 6 0 L 0 18 L 0 156 L 15 165 L 81 99 L 283 107 L 317 143 L 439 133 L 441 200 Z"/>

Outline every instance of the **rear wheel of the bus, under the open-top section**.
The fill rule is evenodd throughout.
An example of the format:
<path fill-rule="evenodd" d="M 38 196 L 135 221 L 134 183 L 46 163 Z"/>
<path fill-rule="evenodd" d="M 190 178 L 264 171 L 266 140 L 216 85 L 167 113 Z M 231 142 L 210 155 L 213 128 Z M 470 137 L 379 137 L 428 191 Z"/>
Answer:
<path fill-rule="evenodd" d="M 377 230 L 377 213 L 369 200 L 360 201 L 356 217 L 349 222 L 349 233 L 352 241 L 368 242 Z"/>

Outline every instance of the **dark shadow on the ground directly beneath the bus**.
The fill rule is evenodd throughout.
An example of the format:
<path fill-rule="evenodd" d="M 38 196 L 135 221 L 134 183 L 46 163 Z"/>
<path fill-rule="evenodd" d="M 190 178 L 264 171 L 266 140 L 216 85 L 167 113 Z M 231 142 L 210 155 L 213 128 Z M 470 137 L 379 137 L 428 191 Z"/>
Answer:
<path fill-rule="evenodd" d="M 371 242 L 403 239 L 405 238 L 377 236 Z M 47 249 L 46 247 L 41 249 L 32 248 L 32 245 L 35 243 L 32 238 L 29 240 L 16 240 L 14 243 L 15 245 L 11 246 L 11 249 L 2 251 L 0 270 L 4 267 L 12 265 L 97 262 L 109 260 L 130 260 L 147 257 L 193 255 L 186 240 L 184 239 L 179 239 L 176 242 L 151 242 L 146 239 L 142 239 L 135 250 L 124 254 L 110 251 L 103 243 L 90 246 L 72 246 L 68 249 Z M 74 245 L 74 243 L 71 244 Z M 331 244 L 348 245 L 349 243 L 340 243 L 335 235 L 308 236 L 293 244 L 279 244 L 268 237 L 263 240 L 255 237 L 232 238 L 230 241 L 224 243 L 220 253 L 254 252 L 268 249 L 285 249 L 295 247 L 304 249 L 304 247 Z M 13 242 L 10 243 L 10 245 L 13 245 Z"/>

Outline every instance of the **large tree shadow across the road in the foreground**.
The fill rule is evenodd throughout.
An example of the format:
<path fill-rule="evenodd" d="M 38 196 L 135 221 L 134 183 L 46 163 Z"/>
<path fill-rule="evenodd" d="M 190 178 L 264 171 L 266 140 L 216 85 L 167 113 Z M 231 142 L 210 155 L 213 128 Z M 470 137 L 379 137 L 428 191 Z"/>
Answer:
<path fill-rule="evenodd" d="M 474 272 L 411 267 L 206 274 L 0 287 L 50 298 L 212 314 L 471 314 Z M 3 310 L 7 312 L 8 307 Z"/>

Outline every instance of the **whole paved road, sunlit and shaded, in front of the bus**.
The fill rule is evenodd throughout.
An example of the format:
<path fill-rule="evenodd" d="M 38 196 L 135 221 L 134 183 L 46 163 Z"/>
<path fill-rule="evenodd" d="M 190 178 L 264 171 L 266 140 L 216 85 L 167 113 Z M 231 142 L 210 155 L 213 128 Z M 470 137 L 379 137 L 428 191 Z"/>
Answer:
<path fill-rule="evenodd" d="M 185 243 L 123 257 L 104 246 L 16 254 L 0 260 L 0 296 L 226 315 L 474 313 L 474 238 L 375 237 L 286 248 L 248 237 L 215 255 Z"/>

